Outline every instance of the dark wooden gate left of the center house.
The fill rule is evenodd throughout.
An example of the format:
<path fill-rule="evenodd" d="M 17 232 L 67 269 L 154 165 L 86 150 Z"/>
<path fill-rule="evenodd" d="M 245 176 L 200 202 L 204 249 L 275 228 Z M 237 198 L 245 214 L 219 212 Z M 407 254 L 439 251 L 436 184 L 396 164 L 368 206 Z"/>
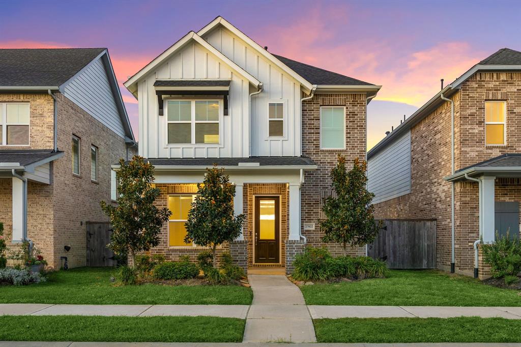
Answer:
<path fill-rule="evenodd" d="M 114 253 L 107 248 L 110 242 L 108 222 L 86 222 L 87 266 L 116 266 Z"/>

